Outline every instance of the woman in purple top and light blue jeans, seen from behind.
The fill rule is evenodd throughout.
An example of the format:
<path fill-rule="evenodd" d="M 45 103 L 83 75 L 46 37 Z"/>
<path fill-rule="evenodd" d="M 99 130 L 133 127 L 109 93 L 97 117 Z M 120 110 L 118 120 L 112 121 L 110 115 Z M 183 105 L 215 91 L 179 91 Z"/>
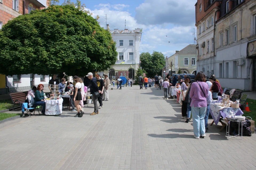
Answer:
<path fill-rule="evenodd" d="M 205 75 L 201 72 L 197 73 L 195 83 L 191 85 L 191 112 L 193 117 L 194 137 L 199 139 L 200 136 L 205 137 L 205 113 L 206 113 L 206 98 L 208 97 L 208 84 L 205 83 Z"/>

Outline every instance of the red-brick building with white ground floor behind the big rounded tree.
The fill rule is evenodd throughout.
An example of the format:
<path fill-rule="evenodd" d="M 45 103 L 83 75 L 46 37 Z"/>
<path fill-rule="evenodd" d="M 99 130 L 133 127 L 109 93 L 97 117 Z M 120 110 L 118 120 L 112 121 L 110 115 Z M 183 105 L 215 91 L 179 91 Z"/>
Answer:
<path fill-rule="evenodd" d="M 48 2 L 47 0 L 0 0 L 0 29 L 12 18 L 48 7 Z M 0 94 L 29 89 L 31 83 L 32 86 L 48 84 L 47 81 L 49 82 L 49 76 L 45 75 L 0 75 Z"/>

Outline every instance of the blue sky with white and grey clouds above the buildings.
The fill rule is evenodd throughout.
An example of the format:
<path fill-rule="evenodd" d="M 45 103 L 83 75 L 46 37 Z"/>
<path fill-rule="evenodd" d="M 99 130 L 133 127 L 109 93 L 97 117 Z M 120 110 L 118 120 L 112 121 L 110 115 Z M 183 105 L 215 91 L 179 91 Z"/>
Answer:
<path fill-rule="evenodd" d="M 62 4 L 64 0 L 60 0 Z M 74 0 L 71 0 L 75 2 Z M 93 18 L 99 15 L 99 24 L 110 30 L 142 28 L 140 53 L 162 52 L 170 57 L 194 43 L 195 3 L 197 0 L 81 0 Z"/>

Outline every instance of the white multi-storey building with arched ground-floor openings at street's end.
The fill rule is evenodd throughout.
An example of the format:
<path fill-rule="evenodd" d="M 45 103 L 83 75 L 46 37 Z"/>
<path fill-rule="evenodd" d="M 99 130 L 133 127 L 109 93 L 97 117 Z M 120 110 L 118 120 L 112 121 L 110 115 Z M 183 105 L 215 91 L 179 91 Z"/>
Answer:
<path fill-rule="evenodd" d="M 108 27 L 109 30 L 109 27 Z M 116 48 L 118 52 L 117 61 L 115 65 L 112 65 L 108 70 L 105 70 L 105 74 L 109 74 L 109 78 L 112 79 L 119 77 L 132 78 L 139 67 L 139 43 L 141 41 L 140 29 L 135 30 L 110 30 L 112 39 L 116 42 Z"/>

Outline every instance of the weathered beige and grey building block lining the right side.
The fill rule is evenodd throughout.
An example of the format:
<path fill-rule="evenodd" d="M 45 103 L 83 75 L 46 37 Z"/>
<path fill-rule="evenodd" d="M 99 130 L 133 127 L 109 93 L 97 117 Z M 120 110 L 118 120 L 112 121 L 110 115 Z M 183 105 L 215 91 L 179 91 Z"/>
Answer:
<path fill-rule="evenodd" d="M 215 74 L 223 88 L 256 90 L 255 4 L 256 0 L 198 0 L 195 4 L 197 71 Z M 213 27 L 208 24 L 212 17 Z"/>

